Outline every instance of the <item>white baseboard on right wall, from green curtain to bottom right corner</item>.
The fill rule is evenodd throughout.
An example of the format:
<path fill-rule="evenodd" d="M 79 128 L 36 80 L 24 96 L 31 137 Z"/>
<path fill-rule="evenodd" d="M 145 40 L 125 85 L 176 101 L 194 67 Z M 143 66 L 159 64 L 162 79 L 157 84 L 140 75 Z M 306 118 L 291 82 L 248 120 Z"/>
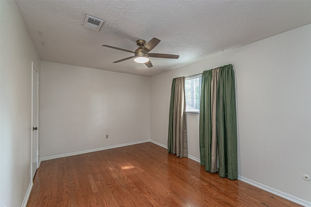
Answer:
<path fill-rule="evenodd" d="M 303 200 L 301 198 L 298 198 L 298 197 L 296 197 L 294 195 L 291 195 L 291 194 L 288 194 L 286 192 L 282 192 L 282 191 L 276 190 L 274 188 L 271 188 L 269 186 L 263 185 L 263 184 L 261 184 L 259 182 L 254 181 L 254 180 L 251 180 L 251 179 L 248 179 L 246 177 L 243 177 L 241 175 L 238 176 L 238 179 L 243 181 L 243 182 L 245 182 L 245 183 L 248 183 L 248 184 L 250 184 L 252 186 L 260 188 L 260 189 L 262 189 L 264 191 L 271 192 L 271 193 L 273 193 L 275 195 L 278 195 L 278 196 L 280 196 L 282 198 L 285 198 L 287 200 L 293 201 L 296 204 L 299 204 L 299 205 L 302 205 L 302 206 L 305 206 L 305 207 L 311 207 L 311 202 Z"/>

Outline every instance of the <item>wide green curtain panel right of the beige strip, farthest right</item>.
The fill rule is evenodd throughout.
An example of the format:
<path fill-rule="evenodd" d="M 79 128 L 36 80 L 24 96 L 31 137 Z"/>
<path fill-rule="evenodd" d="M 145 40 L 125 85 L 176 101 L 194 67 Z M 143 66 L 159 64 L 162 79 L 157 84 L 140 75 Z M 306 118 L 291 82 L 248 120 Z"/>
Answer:
<path fill-rule="evenodd" d="M 237 112 L 235 98 L 235 76 L 233 66 L 219 69 L 217 84 L 217 145 L 219 175 L 229 179 L 238 178 Z"/>

